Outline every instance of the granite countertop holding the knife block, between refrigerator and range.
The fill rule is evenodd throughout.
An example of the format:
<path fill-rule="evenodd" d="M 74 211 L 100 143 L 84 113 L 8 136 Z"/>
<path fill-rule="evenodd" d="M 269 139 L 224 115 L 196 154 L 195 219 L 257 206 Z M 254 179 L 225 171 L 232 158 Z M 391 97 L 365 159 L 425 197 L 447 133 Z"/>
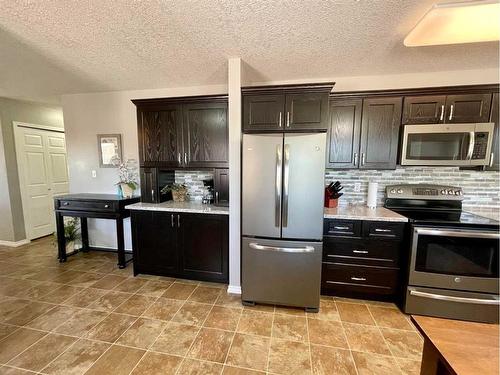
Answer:
<path fill-rule="evenodd" d="M 408 221 L 408 218 L 384 207 L 372 209 L 364 205 L 346 205 L 336 208 L 325 208 L 324 212 L 325 219 Z"/>

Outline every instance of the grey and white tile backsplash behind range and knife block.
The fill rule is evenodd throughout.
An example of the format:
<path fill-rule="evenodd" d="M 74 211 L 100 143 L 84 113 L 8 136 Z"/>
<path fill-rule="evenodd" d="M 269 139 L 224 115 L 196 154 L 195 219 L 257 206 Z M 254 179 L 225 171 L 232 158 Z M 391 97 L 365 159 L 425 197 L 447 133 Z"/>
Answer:
<path fill-rule="evenodd" d="M 459 186 L 464 191 L 464 209 L 475 212 L 500 211 L 500 172 L 468 171 L 458 167 L 398 167 L 396 170 L 326 170 L 325 182 L 340 181 L 344 195 L 339 204 L 366 203 L 368 183 L 378 182 L 377 201 L 383 205 L 386 185 L 439 184 Z M 354 184 L 360 183 L 360 192 Z"/>

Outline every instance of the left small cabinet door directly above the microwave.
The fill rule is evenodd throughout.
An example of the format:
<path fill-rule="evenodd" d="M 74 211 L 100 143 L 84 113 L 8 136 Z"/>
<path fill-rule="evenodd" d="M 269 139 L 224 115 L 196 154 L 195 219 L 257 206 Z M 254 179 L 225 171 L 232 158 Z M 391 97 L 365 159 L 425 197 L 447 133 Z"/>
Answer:
<path fill-rule="evenodd" d="M 437 124 L 444 121 L 446 96 L 406 96 L 403 124 Z"/>

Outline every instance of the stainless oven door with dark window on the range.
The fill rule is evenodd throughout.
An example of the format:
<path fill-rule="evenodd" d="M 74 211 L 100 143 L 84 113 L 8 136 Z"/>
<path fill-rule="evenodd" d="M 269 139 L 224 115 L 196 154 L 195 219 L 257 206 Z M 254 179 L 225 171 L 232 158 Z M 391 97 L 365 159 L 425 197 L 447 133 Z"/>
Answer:
<path fill-rule="evenodd" d="M 409 284 L 498 293 L 500 234 L 413 227 Z"/>

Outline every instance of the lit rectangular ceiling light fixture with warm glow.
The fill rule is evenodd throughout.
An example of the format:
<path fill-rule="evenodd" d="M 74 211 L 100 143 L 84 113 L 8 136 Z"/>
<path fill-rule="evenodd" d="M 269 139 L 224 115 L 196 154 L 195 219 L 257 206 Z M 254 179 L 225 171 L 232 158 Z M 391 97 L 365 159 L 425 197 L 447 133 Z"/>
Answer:
<path fill-rule="evenodd" d="M 479 0 L 434 4 L 404 40 L 407 47 L 500 40 L 500 3 Z"/>

